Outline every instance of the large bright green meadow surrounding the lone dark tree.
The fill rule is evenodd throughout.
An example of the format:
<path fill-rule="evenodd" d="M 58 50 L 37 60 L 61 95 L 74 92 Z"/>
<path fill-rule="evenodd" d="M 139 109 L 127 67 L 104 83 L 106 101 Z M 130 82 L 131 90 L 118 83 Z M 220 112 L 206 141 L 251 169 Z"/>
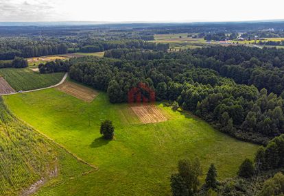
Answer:
<path fill-rule="evenodd" d="M 230 138 L 162 103 L 156 107 L 167 121 L 143 124 L 128 104 L 111 104 L 102 92 L 91 103 L 54 88 L 4 99 L 17 117 L 99 168 L 76 180 L 47 184 L 38 195 L 171 195 L 169 177 L 180 158 L 198 156 L 204 173 L 214 162 L 222 180 L 235 176 L 244 158 L 257 150 L 257 145 Z M 115 125 L 112 141 L 99 134 L 105 119 Z"/>

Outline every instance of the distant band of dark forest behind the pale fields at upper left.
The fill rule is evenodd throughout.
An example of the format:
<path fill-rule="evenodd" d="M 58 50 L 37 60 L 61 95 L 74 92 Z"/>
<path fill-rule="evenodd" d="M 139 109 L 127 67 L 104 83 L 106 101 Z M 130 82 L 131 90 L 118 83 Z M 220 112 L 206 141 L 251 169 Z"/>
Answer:
<path fill-rule="evenodd" d="M 15 57 L 37 57 L 69 52 L 92 53 L 108 49 L 150 49 L 167 51 L 168 44 L 147 42 L 145 40 L 97 40 L 95 38 L 76 38 L 70 40 L 47 39 L 35 40 L 33 38 L 2 38 L 0 40 L 0 60 L 12 60 Z M 1 62 L 0 66 L 4 62 Z"/>

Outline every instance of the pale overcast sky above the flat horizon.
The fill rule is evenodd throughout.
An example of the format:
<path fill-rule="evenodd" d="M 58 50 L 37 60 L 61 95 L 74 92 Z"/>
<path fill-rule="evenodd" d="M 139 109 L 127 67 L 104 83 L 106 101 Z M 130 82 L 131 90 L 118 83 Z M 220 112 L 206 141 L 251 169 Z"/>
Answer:
<path fill-rule="evenodd" d="M 0 0 L 0 22 L 207 22 L 284 19 L 283 0 Z"/>

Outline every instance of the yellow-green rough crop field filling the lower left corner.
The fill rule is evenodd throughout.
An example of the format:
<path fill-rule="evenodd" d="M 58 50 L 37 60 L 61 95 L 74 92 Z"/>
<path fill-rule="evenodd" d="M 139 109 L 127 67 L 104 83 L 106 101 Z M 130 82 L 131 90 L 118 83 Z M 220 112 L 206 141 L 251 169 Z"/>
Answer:
<path fill-rule="evenodd" d="M 16 119 L 1 98 L 0 114 L 0 195 L 29 195 L 95 171 Z"/>

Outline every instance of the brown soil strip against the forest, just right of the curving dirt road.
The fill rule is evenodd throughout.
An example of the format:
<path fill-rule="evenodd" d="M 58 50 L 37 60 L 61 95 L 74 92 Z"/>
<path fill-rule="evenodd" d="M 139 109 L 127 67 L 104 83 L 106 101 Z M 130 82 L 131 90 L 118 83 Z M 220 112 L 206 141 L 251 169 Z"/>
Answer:
<path fill-rule="evenodd" d="M 82 99 L 86 102 L 91 102 L 98 95 L 97 91 L 80 84 L 75 84 L 74 82 L 64 82 L 59 85 L 58 90 L 67 93 L 78 99 Z"/>

